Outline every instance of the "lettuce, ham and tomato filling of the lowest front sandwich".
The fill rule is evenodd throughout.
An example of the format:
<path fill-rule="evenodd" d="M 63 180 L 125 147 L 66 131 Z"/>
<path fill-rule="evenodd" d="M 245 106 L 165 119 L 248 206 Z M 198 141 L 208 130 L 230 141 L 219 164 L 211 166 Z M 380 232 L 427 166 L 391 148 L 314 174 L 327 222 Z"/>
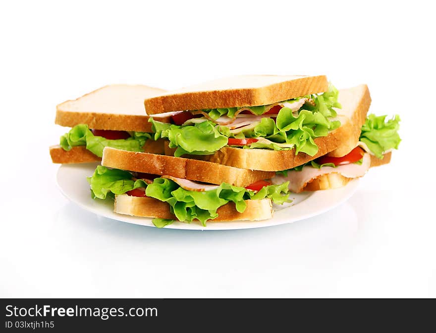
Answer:
<path fill-rule="evenodd" d="M 171 176 L 148 177 L 132 174 L 119 169 L 108 169 L 99 165 L 92 177 L 88 178 L 93 198 L 105 199 L 107 196 L 127 193 L 133 196 L 147 196 L 166 202 L 170 212 L 178 221 L 190 223 L 199 220 L 203 226 L 206 221 L 218 217 L 219 207 L 232 201 L 240 213 L 246 209 L 244 200 L 269 198 L 275 204 L 289 202 L 288 183 L 274 185 L 265 182 L 265 186 L 253 190 L 222 183 L 221 185 L 202 184 Z M 151 181 L 149 178 L 154 178 Z M 258 182 L 257 182 L 258 183 Z M 174 220 L 153 219 L 156 227 L 164 227 Z"/>

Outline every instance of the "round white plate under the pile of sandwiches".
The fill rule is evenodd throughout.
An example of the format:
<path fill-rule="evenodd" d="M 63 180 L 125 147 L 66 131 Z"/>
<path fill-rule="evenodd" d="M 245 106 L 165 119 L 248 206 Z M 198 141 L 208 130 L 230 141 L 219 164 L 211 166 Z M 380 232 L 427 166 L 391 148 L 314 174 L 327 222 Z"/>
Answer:
<path fill-rule="evenodd" d="M 86 177 L 93 174 L 97 163 L 80 165 L 61 165 L 57 171 L 57 184 L 62 193 L 71 201 L 95 214 L 128 223 L 154 227 L 152 219 L 121 215 L 113 212 L 113 201 L 92 199 Z M 171 229 L 190 230 L 230 230 L 248 229 L 275 226 L 291 223 L 322 214 L 347 200 L 356 190 L 359 180 L 352 180 L 347 186 L 336 190 L 323 190 L 291 194 L 293 202 L 282 206 L 274 205 L 274 216 L 265 221 L 233 221 L 233 222 L 207 222 L 207 227 L 200 223 L 174 222 L 165 227 Z"/>

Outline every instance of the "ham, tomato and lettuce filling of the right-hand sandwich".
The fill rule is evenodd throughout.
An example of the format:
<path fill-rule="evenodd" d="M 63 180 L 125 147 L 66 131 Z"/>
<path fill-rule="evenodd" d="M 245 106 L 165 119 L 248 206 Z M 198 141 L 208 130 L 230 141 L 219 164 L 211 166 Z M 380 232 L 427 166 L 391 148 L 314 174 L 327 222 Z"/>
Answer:
<path fill-rule="evenodd" d="M 382 159 L 383 154 L 398 149 L 401 141 L 398 135 L 400 118 L 370 114 L 362 126 L 357 146 L 342 157 L 321 156 L 293 169 L 278 171 L 272 183 L 289 182 L 289 190 L 301 192 L 304 187 L 322 175 L 338 173 L 346 178 L 358 178 L 371 167 L 371 155 Z"/>

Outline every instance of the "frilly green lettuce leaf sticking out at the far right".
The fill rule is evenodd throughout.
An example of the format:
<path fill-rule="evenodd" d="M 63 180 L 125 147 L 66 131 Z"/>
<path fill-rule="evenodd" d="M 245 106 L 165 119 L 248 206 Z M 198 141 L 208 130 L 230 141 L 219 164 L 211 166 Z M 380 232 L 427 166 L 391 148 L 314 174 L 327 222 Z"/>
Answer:
<path fill-rule="evenodd" d="M 400 117 L 395 115 L 392 119 L 385 120 L 386 116 L 370 114 L 362 126 L 360 141 L 378 157 L 383 158 L 383 152 L 389 149 L 398 149 L 401 142 L 398 135 Z"/>

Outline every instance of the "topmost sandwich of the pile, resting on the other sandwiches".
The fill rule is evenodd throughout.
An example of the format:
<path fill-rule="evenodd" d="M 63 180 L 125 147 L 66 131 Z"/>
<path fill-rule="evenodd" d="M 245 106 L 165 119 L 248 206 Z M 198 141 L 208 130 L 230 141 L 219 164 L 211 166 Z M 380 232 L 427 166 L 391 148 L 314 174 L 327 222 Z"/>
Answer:
<path fill-rule="evenodd" d="M 370 102 L 365 85 L 340 94 L 325 76 L 238 76 L 146 98 L 144 105 L 167 155 L 281 171 L 336 149 L 360 130 Z M 155 119 L 177 111 L 174 124 Z"/>

